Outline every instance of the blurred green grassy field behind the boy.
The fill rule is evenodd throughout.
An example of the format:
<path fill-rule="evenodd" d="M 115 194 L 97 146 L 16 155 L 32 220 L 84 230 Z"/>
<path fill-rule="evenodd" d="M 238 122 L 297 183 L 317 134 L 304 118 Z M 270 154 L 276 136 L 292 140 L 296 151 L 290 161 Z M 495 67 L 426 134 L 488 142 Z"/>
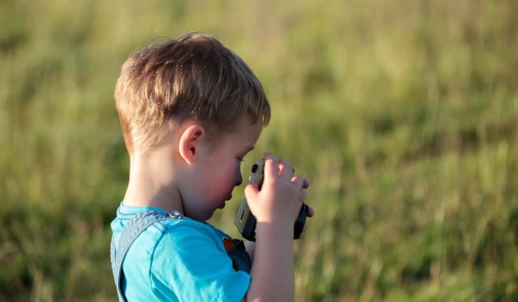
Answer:
<path fill-rule="evenodd" d="M 0 300 L 116 300 L 138 47 L 217 36 L 262 81 L 264 151 L 311 181 L 297 301 L 518 297 L 518 2 L 0 1 Z M 244 184 L 211 223 L 239 237 Z"/>

